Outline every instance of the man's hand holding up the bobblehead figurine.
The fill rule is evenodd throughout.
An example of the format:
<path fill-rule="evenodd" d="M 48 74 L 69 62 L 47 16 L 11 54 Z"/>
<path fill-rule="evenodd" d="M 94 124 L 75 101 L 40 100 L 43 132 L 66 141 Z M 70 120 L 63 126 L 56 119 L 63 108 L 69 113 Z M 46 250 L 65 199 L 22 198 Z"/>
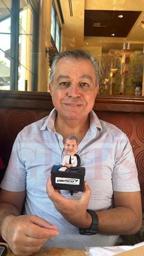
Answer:
<path fill-rule="evenodd" d="M 92 217 L 87 213 L 87 208 L 91 190 L 86 181 L 84 184 L 84 192 L 79 199 L 68 199 L 62 196 L 60 191 L 55 190 L 51 185 L 51 177 L 48 178 L 46 191 L 57 211 L 59 211 L 68 222 L 76 227 L 90 227 Z"/>

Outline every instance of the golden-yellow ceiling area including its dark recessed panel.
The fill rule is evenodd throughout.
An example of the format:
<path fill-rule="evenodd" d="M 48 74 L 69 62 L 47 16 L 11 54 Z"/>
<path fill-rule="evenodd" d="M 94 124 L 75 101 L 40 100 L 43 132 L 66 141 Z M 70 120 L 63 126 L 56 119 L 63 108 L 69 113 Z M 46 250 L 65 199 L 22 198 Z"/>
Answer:
<path fill-rule="evenodd" d="M 143 0 L 60 0 L 60 5 L 63 49 L 84 48 L 99 56 L 130 43 L 131 49 L 143 51 L 144 29 L 139 26 L 144 21 Z"/>

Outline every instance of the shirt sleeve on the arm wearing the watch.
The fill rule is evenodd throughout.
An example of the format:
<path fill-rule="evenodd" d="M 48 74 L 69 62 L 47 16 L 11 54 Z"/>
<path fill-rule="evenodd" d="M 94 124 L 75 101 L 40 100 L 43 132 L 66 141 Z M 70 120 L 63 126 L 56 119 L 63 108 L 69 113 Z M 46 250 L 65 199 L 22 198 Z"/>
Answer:
<path fill-rule="evenodd" d="M 114 191 L 140 191 L 137 167 L 132 147 L 126 134 L 118 139 L 115 150 L 112 183 Z"/>

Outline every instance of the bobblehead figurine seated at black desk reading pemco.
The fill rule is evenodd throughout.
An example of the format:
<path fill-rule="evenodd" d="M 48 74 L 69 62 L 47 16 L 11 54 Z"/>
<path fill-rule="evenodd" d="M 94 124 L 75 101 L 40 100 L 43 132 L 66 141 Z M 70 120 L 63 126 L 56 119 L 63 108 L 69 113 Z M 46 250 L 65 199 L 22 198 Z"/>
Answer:
<path fill-rule="evenodd" d="M 65 139 L 63 151 L 65 156 L 61 165 L 54 165 L 51 169 L 51 181 L 54 189 L 68 190 L 73 196 L 73 191 L 84 191 L 85 167 L 81 166 L 81 159 L 76 154 L 78 141 L 74 136 Z"/>

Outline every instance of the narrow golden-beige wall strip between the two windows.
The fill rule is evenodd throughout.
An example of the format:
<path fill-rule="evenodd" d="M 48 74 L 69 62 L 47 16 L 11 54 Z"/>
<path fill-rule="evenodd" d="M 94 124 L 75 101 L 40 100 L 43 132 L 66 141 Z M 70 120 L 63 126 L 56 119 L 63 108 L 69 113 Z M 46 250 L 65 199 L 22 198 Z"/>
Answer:
<path fill-rule="evenodd" d="M 40 0 L 38 92 L 48 92 L 49 56 L 45 50 L 51 46 L 51 5 L 52 0 Z"/>

